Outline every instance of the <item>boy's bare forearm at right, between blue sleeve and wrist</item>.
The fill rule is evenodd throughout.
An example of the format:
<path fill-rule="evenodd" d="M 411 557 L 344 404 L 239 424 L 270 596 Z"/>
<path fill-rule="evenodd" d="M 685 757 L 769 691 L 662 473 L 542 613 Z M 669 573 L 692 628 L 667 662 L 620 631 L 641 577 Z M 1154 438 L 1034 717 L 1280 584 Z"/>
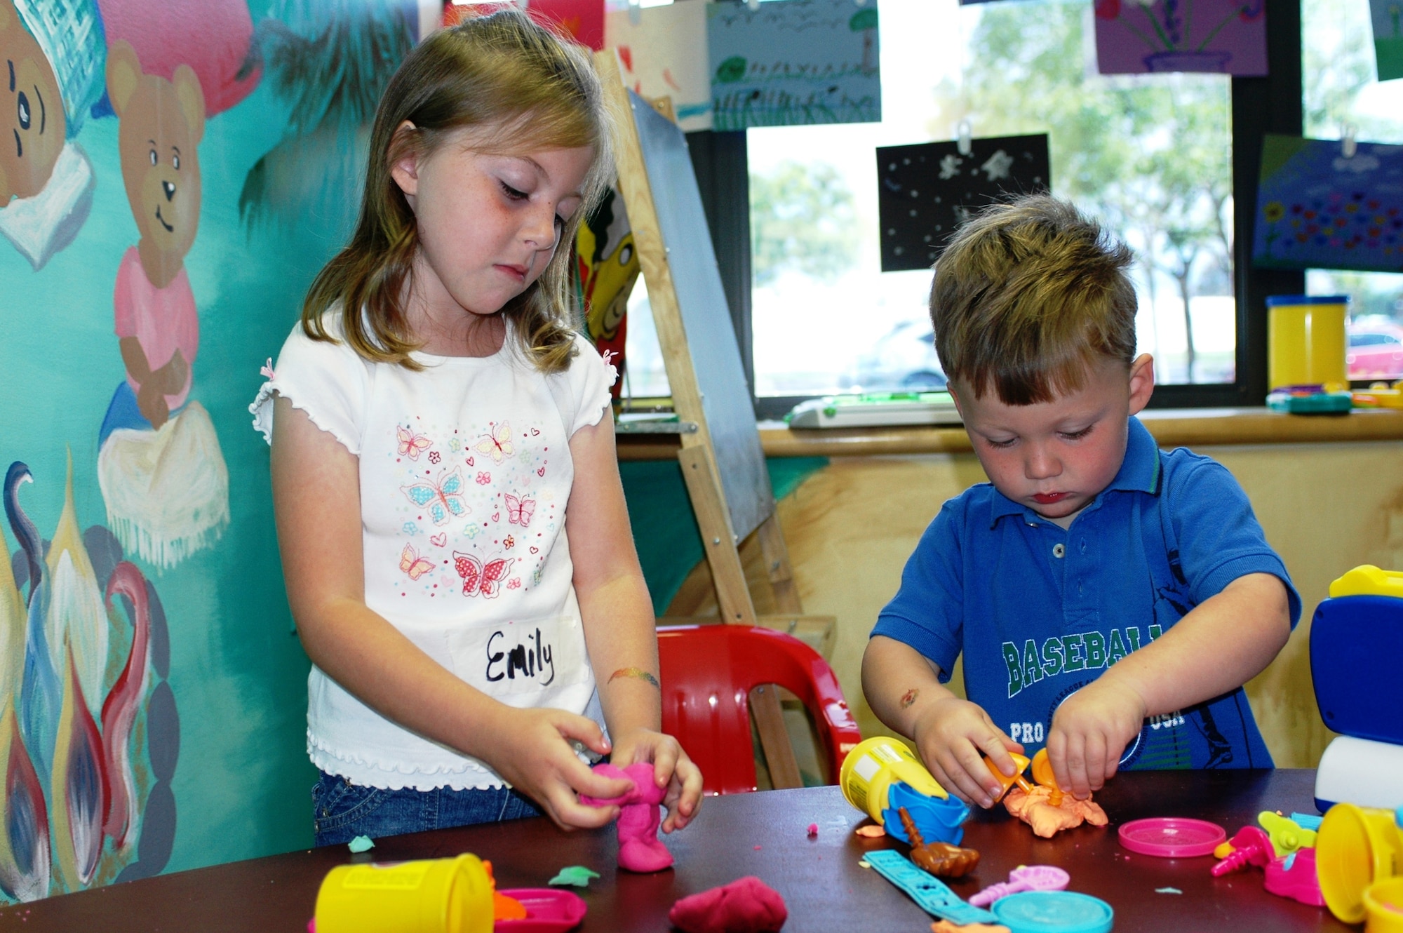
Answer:
<path fill-rule="evenodd" d="M 1146 716 L 1174 713 L 1261 673 L 1289 636 L 1285 585 L 1271 574 L 1247 574 L 1121 658 L 1103 678 L 1139 693 Z"/>

